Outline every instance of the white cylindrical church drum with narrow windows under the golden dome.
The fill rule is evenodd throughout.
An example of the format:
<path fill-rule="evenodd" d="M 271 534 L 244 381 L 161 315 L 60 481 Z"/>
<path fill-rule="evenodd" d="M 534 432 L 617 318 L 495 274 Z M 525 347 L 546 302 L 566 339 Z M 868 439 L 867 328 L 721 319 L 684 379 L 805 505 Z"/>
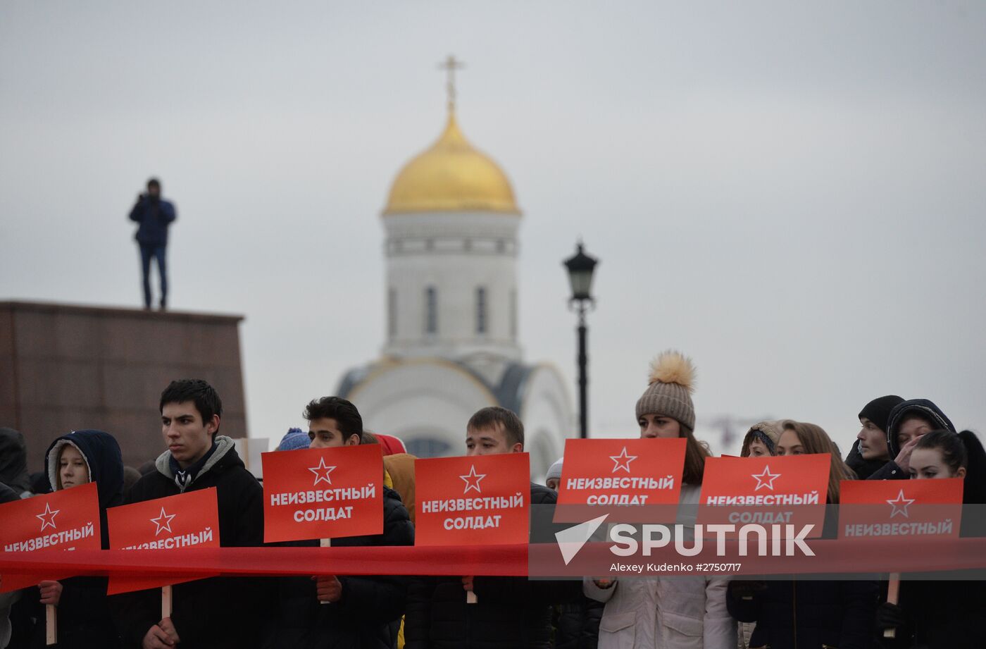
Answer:
<path fill-rule="evenodd" d="M 520 217 L 488 212 L 398 214 L 385 217 L 384 222 L 385 353 L 459 358 L 488 352 L 519 360 Z M 426 331 L 429 286 L 436 290 L 435 333 Z M 485 290 L 485 332 L 477 331 L 476 294 L 480 287 Z"/>

